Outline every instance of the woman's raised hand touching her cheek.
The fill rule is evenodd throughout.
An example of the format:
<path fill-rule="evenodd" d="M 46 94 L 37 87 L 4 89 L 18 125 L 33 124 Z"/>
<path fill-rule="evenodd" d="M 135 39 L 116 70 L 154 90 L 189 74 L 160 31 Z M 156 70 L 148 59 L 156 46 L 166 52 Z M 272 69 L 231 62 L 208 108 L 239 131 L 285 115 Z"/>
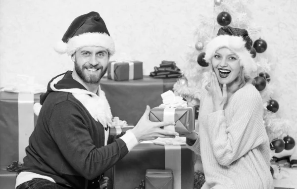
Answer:
<path fill-rule="evenodd" d="M 212 96 L 213 112 L 223 110 L 225 103 L 227 102 L 227 87 L 226 84 L 223 88 L 220 88 L 218 79 L 214 72 L 211 72 L 209 92 Z"/>

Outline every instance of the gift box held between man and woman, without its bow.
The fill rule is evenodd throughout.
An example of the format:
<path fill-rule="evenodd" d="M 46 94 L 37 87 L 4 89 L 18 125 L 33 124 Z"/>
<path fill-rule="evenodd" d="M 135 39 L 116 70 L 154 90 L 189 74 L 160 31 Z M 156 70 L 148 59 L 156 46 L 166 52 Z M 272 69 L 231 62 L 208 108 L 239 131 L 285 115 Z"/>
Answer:
<path fill-rule="evenodd" d="M 195 129 L 195 107 L 160 108 L 150 110 L 149 120 L 153 122 L 175 122 L 175 126 L 166 126 L 164 129 L 176 131 L 183 137 Z"/>

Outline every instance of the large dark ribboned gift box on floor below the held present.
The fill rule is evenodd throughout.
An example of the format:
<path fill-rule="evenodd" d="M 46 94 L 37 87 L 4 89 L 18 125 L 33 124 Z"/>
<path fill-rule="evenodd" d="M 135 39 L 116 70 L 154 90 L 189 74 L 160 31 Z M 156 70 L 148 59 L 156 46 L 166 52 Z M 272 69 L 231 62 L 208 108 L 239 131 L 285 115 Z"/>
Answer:
<path fill-rule="evenodd" d="M 194 160 L 186 145 L 140 143 L 113 166 L 113 189 L 138 187 L 148 169 L 170 169 L 174 189 L 193 189 Z"/>

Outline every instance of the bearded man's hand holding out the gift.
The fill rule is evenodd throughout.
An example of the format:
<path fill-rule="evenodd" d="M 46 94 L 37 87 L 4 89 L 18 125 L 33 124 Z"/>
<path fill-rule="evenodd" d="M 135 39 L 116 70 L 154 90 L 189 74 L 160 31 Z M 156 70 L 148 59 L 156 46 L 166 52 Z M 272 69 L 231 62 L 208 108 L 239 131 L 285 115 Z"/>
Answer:
<path fill-rule="evenodd" d="M 131 130 L 135 135 L 137 141 L 151 141 L 156 138 L 175 138 L 175 136 L 179 136 L 179 134 L 175 131 L 168 131 L 161 129 L 160 127 L 175 125 L 175 123 L 171 122 L 152 122 L 149 121 L 148 116 L 150 113 L 150 107 L 147 106 L 147 109 L 144 115 L 140 118 L 139 122 Z"/>

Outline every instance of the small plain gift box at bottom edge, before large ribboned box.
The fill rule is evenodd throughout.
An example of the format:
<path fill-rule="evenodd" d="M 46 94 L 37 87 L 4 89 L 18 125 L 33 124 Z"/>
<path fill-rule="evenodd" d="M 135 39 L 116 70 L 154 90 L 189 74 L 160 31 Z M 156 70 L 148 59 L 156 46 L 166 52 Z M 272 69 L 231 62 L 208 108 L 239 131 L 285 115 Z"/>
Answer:
<path fill-rule="evenodd" d="M 170 169 L 148 169 L 146 173 L 146 189 L 173 189 L 173 173 Z"/>

